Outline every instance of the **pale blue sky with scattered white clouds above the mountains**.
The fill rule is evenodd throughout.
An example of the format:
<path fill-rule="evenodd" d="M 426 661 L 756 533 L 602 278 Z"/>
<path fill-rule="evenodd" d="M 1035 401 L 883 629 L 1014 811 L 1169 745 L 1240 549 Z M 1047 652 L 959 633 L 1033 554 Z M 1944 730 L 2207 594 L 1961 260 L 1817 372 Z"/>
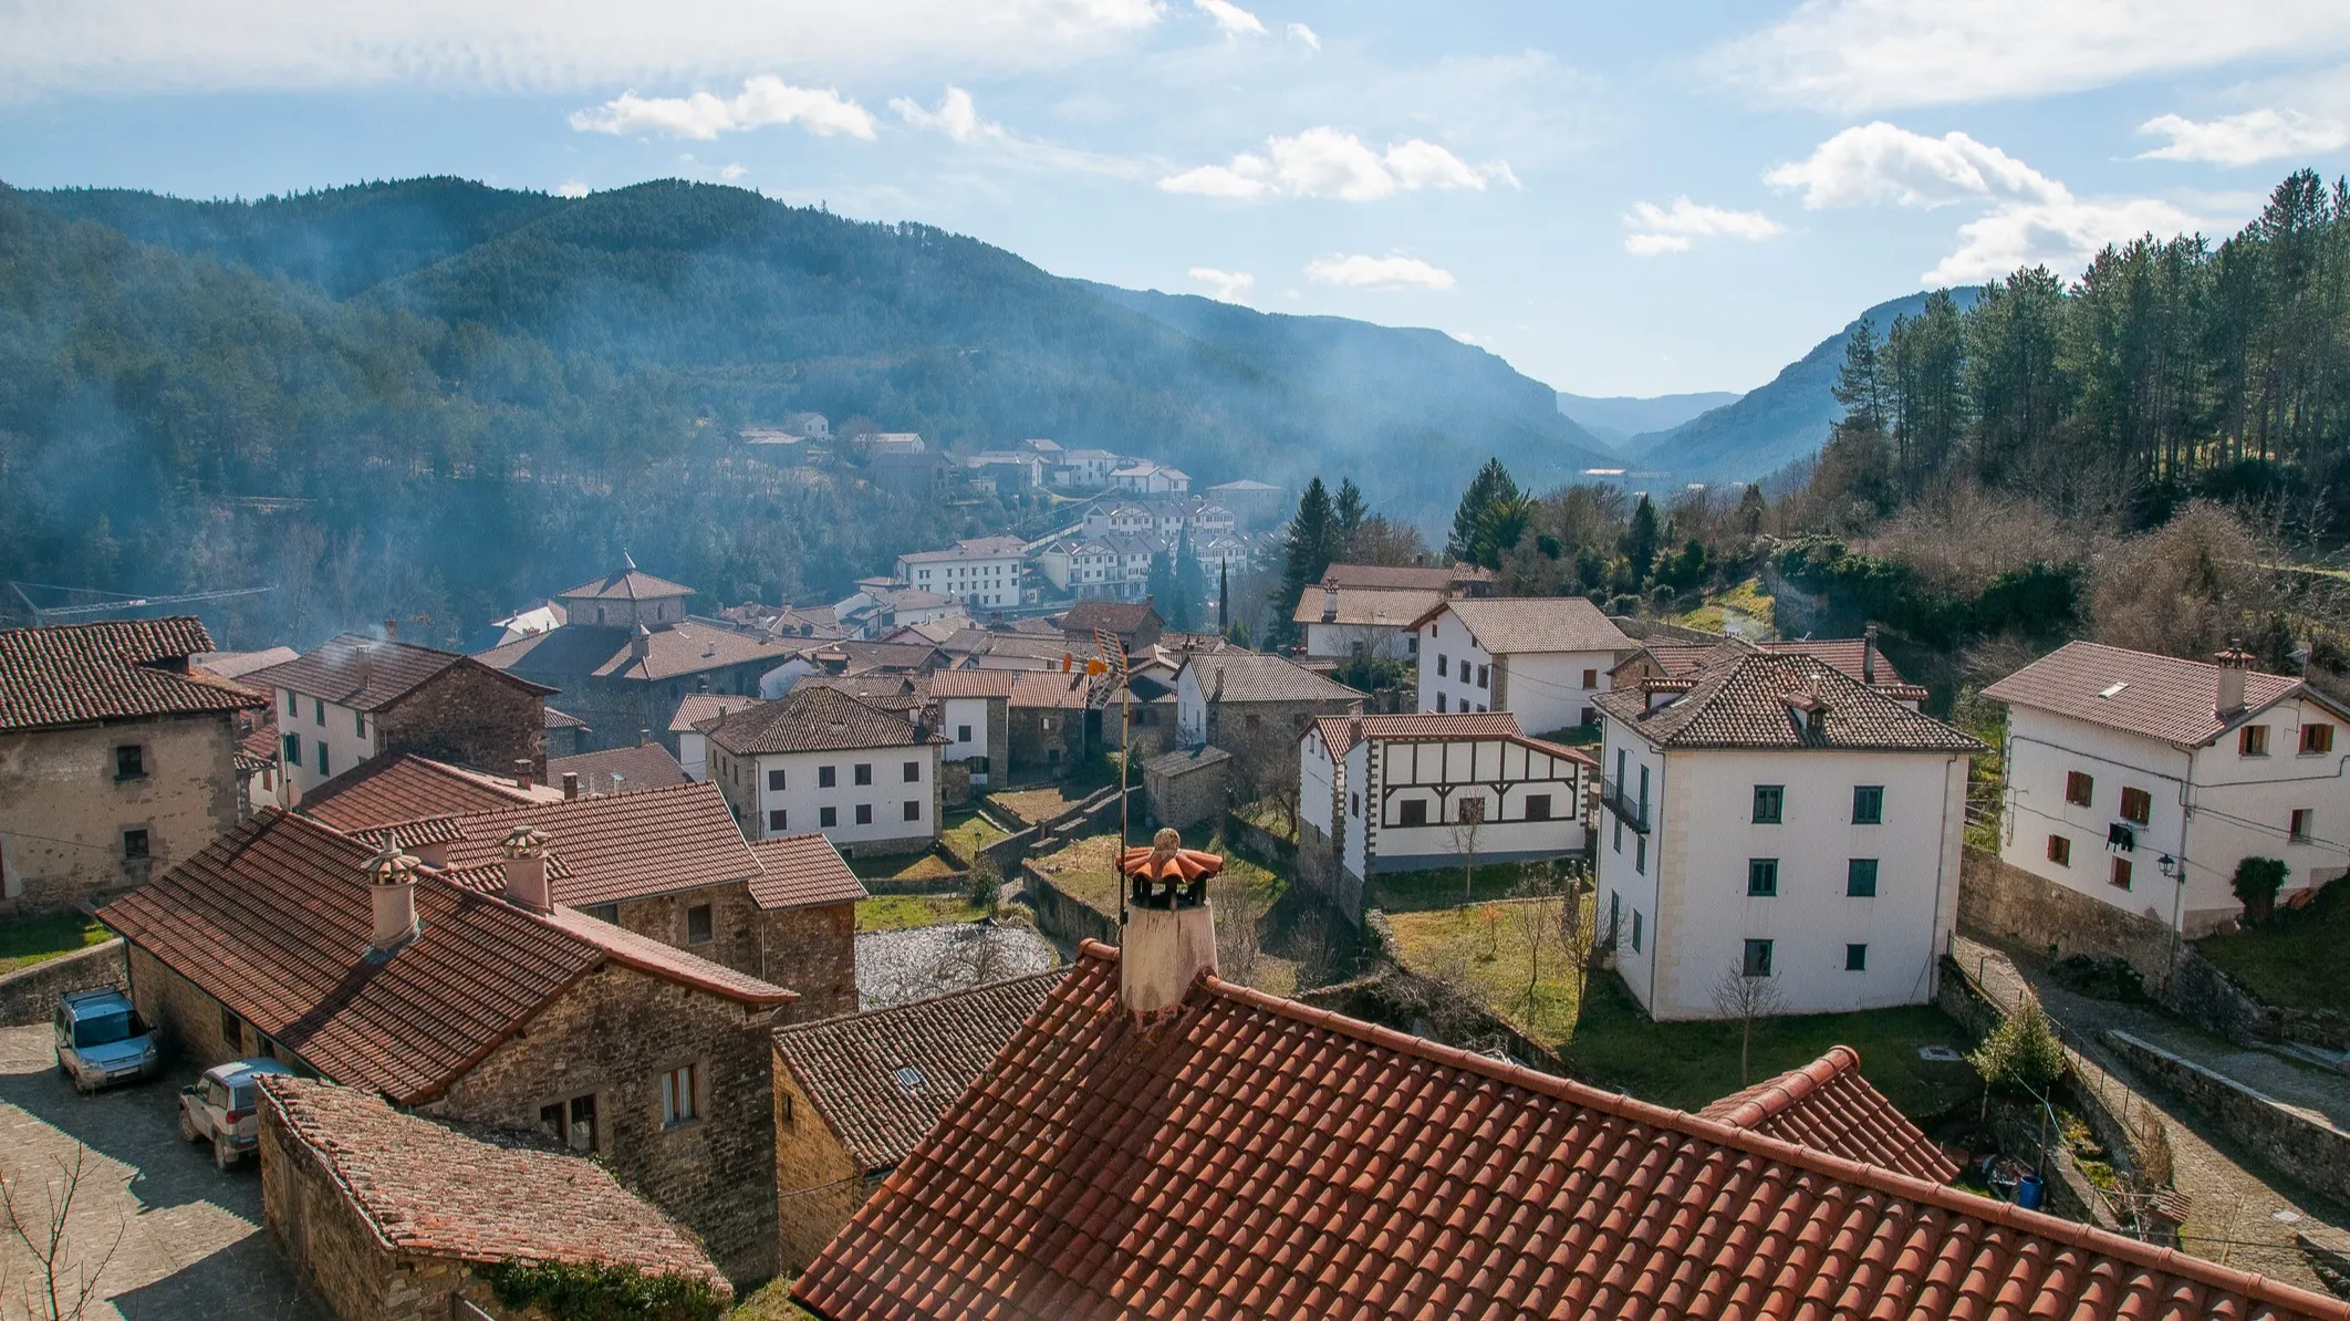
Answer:
<path fill-rule="evenodd" d="M 721 181 L 1086 280 L 1748 390 L 2350 169 L 2343 0 L 0 0 L 0 181 Z"/>

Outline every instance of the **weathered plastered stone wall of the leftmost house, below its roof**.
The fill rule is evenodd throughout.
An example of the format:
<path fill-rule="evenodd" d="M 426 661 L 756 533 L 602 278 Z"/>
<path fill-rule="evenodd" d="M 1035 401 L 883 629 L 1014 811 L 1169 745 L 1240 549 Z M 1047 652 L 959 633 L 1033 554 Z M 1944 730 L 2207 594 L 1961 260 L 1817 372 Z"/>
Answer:
<path fill-rule="evenodd" d="M 146 773 L 115 778 L 115 747 Z M 0 921 L 146 884 L 237 825 L 228 715 L 0 736 Z M 148 856 L 122 856 L 146 830 Z"/>

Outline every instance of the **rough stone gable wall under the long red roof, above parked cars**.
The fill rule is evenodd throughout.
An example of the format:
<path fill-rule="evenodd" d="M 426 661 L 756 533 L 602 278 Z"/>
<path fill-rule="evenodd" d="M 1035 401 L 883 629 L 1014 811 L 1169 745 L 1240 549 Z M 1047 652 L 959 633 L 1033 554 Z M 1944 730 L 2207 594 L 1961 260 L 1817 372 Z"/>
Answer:
<path fill-rule="evenodd" d="M 703 1236 L 740 1290 L 776 1269 L 773 1011 L 606 964 L 472 1067 L 430 1109 L 536 1128 L 597 1098 L 613 1175 Z M 700 1119 L 663 1128 L 660 1077 L 700 1074 Z"/>

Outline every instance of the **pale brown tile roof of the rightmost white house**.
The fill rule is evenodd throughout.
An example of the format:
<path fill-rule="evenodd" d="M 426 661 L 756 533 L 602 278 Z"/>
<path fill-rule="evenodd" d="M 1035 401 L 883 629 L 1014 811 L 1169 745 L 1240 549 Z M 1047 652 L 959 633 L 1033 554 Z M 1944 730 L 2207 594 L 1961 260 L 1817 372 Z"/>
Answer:
<path fill-rule="evenodd" d="M 2066 642 L 1983 689 L 1990 700 L 2186 747 L 2211 743 L 2247 717 L 2298 693 L 2310 693 L 2301 679 L 2251 672 L 2244 675 L 2244 712 L 2221 719 L 2218 665 L 2096 642 Z"/>

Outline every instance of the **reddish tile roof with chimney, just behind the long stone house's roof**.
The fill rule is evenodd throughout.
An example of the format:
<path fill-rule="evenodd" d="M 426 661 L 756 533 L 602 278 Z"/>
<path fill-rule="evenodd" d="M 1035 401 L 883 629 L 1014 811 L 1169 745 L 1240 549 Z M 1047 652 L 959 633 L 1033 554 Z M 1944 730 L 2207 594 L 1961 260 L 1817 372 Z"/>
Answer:
<path fill-rule="evenodd" d="M 677 891 L 752 881 L 759 860 L 714 783 L 686 783 L 630 794 L 508 804 L 456 818 L 465 837 L 449 846 L 451 870 L 491 867 L 498 841 L 517 825 L 550 837 L 548 877 L 555 903 L 585 907 Z M 503 874 L 496 881 L 505 886 Z"/>

